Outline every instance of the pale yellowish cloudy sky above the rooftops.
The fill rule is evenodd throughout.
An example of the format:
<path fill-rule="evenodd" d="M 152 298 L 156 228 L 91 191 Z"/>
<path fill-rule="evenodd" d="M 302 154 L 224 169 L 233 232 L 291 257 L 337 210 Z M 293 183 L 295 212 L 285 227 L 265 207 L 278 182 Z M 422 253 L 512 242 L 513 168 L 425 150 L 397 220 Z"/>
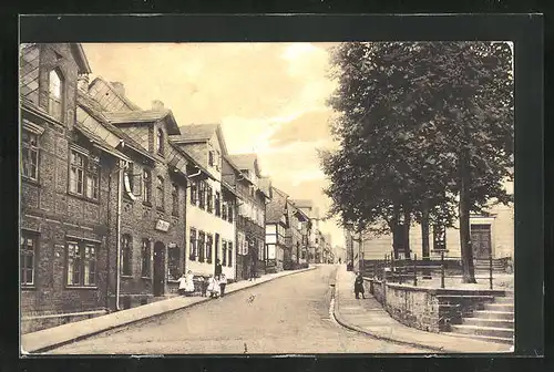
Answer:
<path fill-rule="evenodd" d="M 125 86 L 144 110 L 160 100 L 179 125 L 220 123 L 230 154 L 257 153 L 261 172 L 293 199 L 330 200 L 318 148 L 334 146 L 326 106 L 329 43 L 83 44 L 93 74 Z M 92 81 L 92 80 L 91 80 Z M 343 245 L 335 221 L 320 223 Z"/>

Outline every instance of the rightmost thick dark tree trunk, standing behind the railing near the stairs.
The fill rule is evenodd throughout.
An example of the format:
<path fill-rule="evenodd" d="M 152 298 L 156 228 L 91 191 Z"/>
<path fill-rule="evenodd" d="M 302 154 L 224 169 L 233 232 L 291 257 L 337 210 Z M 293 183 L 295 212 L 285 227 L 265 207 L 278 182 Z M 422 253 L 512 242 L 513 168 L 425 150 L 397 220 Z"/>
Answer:
<path fill-rule="evenodd" d="M 460 244 L 462 254 L 462 282 L 475 283 L 475 270 L 473 267 L 473 249 L 470 236 L 470 200 L 469 200 L 469 154 L 462 149 L 460 158 Z"/>

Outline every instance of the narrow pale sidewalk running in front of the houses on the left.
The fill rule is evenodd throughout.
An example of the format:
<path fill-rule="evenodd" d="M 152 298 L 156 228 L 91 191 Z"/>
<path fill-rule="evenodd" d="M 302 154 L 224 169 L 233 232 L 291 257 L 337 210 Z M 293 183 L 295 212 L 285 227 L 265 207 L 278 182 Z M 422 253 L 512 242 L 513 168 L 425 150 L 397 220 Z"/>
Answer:
<path fill-rule="evenodd" d="M 289 275 L 314 270 L 316 267 L 308 269 L 280 271 L 277 273 L 264 275 L 256 280 L 242 280 L 227 285 L 225 293 L 233 293 L 246 288 L 252 288 L 277 278 Z M 112 312 L 106 316 L 86 319 L 73 323 L 68 323 L 54 328 L 49 328 L 42 331 L 27 333 L 21 335 L 22 353 L 40 353 L 63 344 L 75 342 L 88 337 L 102 333 L 115 328 L 130 326 L 132 323 L 165 314 L 176 310 L 185 309 L 197 303 L 209 301 L 209 297 L 174 297 L 167 300 L 147 303 L 129 310 Z"/>

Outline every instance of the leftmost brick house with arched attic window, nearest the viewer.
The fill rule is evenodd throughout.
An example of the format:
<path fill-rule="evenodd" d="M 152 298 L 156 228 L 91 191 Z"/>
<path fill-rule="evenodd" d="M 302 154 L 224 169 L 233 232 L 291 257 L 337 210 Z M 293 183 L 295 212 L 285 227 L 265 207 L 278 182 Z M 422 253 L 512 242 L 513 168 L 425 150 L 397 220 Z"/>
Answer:
<path fill-rule="evenodd" d="M 64 322 L 60 314 L 107 307 L 110 174 L 124 155 L 76 123 L 78 80 L 91 72 L 80 44 L 22 45 L 20 62 L 20 282 L 29 332 Z"/>

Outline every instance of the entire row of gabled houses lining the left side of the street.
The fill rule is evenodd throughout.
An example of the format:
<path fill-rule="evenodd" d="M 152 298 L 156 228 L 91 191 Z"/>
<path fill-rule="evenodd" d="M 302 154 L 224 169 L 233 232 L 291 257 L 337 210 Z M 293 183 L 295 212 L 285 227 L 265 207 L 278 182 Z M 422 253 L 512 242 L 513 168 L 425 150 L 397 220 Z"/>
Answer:
<path fill-rule="evenodd" d="M 79 43 L 21 46 L 23 332 L 171 296 L 217 261 L 230 281 L 325 261 L 318 209 L 229 154 L 219 124 L 91 73 Z"/>

